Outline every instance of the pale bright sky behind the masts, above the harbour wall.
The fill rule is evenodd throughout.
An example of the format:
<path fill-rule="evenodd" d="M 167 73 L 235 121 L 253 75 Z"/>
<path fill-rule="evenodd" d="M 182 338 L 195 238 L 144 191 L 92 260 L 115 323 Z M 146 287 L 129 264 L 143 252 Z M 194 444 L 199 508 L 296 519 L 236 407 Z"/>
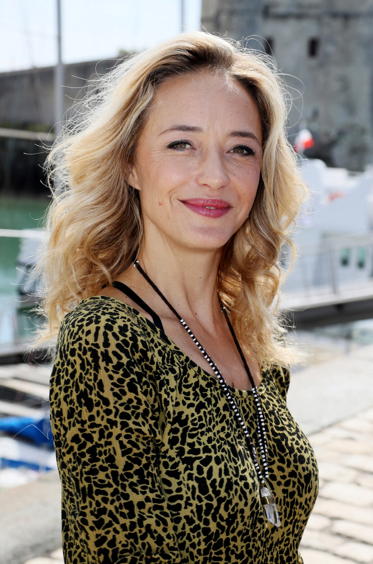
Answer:
<path fill-rule="evenodd" d="M 180 32 L 181 0 L 61 0 L 64 63 L 146 49 Z M 199 29 L 201 0 L 185 0 Z M 56 63 L 56 0 L 0 0 L 0 72 Z"/>

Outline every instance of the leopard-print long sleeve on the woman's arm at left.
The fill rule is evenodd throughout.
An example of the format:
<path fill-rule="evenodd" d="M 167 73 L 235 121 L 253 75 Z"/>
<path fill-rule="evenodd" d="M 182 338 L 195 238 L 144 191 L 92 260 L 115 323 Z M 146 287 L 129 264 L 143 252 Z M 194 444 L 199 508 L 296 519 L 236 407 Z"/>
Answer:
<path fill-rule="evenodd" d="M 141 334 L 69 314 L 51 379 L 66 562 L 181 562 L 158 472 L 164 402 Z M 122 320 L 123 323 L 123 320 Z M 167 410 L 166 410 L 167 411 Z"/>

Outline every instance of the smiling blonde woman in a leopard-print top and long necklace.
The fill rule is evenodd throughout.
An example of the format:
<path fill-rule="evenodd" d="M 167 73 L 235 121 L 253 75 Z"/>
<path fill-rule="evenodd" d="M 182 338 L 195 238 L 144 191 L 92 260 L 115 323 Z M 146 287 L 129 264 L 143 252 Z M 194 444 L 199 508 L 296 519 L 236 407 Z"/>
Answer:
<path fill-rule="evenodd" d="M 43 266 L 65 562 L 302 562 L 317 466 L 276 320 L 303 197 L 281 82 L 183 34 L 77 116 Z"/>

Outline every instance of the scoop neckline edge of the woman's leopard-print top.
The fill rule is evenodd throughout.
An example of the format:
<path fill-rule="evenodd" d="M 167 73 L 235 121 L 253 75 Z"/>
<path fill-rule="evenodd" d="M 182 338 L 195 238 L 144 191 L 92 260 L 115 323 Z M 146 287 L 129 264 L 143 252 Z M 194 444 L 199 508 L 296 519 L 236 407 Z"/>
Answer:
<path fill-rule="evenodd" d="M 128 303 L 122 302 L 122 301 L 121 301 L 120 299 L 118 299 L 118 298 L 113 298 L 113 297 L 111 297 L 111 296 L 89 296 L 88 298 L 82 299 L 82 301 L 80 302 L 80 304 L 83 303 L 83 302 L 87 302 L 89 299 L 109 299 L 109 300 L 111 300 L 111 301 L 118 302 L 121 306 L 124 306 L 126 309 L 130 310 L 130 311 L 132 312 L 132 314 L 133 314 L 134 316 L 136 316 L 142 323 L 145 321 L 145 323 L 146 323 L 146 325 L 149 327 L 149 329 L 150 329 L 153 333 L 157 334 L 157 336 L 161 338 L 161 340 L 165 343 L 165 345 L 167 345 L 168 347 L 170 347 L 170 349 L 174 349 L 174 350 L 176 350 L 177 352 L 179 352 L 179 354 L 181 354 L 181 355 L 185 358 L 185 362 L 186 362 L 188 365 L 191 365 L 192 368 L 196 369 L 197 372 L 200 372 L 200 374 L 201 374 L 202 377 L 208 378 L 209 380 L 211 380 L 211 378 L 212 378 L 213 381 L 215 382 L 215 384 L 216 384 L 217 386 L 219 386 L 218 378 L 216 378 L 215 376 L 213 376 L 212 374 L 210 374 L 209 372 L 207 372 L 204 368 L 202 368 L 199 364 L 197 364 L 194 360 L 192 360 L 192 359 L 190 358 L 190 356 L 188 356 L 187 354 L 185 354 L 185 352 L 182 351 L 182 350 L 180 349 L 180 347 L 178 347 L 178 346 L 176 345 L 176 343 L 174 343 L 174 342 L 167 336 L 167 334 L 165 334 L 164 331 L 161 331 L 158 327 L 156 327 L 156 325 L 155 325 L 152 321 L 150 321 L 150 319 L 147 319 L 147 318 L 145 317 L 145 315 L 143 315 L 143 314 L 142 314 L 140 311 L 138 311 L 136 308 L 134 308 L 134 307 L 132 307 L 132 306 L 129 306 Z M 80 305 L 80 304 L 79 304 L 79 305 Z M 165 339 L 167 339 L 167 341 L 163 338 L 162 333 L 163 333 Z M 259 384 L 259 386 L 257 387 L 257 390 L 258 390 L 258 393 L 259 393 L 259 394 L 262 392 L 262 390 L 263 390 L 263 388 L 264 388 L 264 377 L 265 377 L 265 375 L 266 375 L 266 371 L 261 370 L 261 371 L 260 371 L 260 374 L 261 374 L 261 376 L 262 376 L 262 380 L 260 381 L 260 384 Z M 240 390 L 239 388 L 233 388 L 232 386 L 229 386 L 228 384 L 227 384 L 227 388 L 228 388 L 228 390 L 230 391 L 230 393 L 231 393 L 232 395 L 236 395 L 236 396 L 239 396 L 239 397 L 246 397 L 246 396 L 249 396 L 249 395 L 253 396 L 253 391 L 252 391 L 251 389 L 250 389 L 250 390 Z"/>

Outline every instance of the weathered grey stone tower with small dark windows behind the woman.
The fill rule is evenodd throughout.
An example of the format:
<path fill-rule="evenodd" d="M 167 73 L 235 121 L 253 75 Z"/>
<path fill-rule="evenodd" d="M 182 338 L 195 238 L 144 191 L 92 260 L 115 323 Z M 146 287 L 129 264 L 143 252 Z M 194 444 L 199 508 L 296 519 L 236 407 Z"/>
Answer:
<path fill-rule="evenodd" d="M 373 162 L 373 0 L 203 0 L 201 24 L 256 35 L 249 47 L 274 56 L 294 98 L 289 139 L 308 127 L 309 157 L 350 170 Z"/>

